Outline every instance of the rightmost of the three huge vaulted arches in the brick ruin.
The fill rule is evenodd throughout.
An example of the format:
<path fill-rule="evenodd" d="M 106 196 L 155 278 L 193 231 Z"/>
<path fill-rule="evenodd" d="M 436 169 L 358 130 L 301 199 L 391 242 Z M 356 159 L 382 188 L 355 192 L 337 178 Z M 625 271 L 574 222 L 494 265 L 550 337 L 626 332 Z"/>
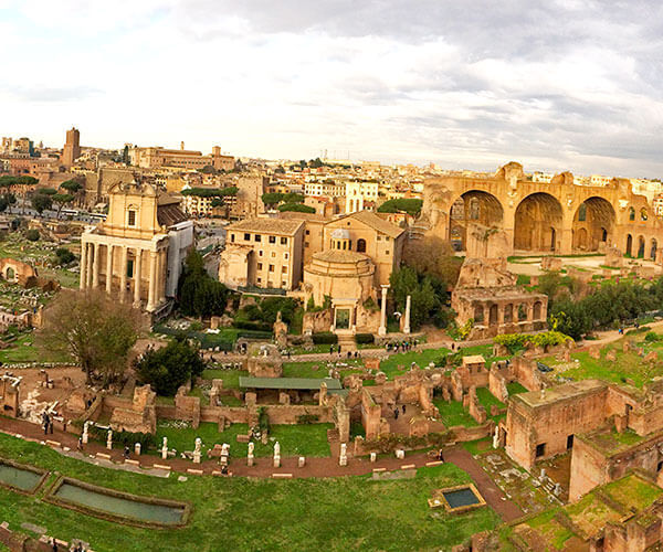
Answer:
<path fill-rule="evenodd" d="M 615 220 L 614 208 L 609 201 L 598 197 L 585 200 L 573 215 L 573 248 L 599 251 L 601 243 L 607 244 L 612 236 Z"/>

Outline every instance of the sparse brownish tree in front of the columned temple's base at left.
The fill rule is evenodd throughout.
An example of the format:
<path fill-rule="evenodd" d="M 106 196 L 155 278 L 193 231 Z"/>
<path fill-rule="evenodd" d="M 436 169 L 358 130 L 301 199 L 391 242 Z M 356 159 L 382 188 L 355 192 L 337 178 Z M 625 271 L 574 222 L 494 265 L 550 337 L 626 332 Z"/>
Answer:
<path fill-rule="evenodd" d="M 38 343 L 73 357 L 87 376 L 106 388 L 127 368 L 130 349 L 143 328 L 140 312 L 104 291 L 60 291 L 45 311 Z"/>

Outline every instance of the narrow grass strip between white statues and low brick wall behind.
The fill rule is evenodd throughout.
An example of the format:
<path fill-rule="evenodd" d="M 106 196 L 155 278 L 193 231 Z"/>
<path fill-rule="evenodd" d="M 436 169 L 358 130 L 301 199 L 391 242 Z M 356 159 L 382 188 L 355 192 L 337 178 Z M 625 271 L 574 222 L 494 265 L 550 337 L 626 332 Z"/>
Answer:
<path fill-rule="evenodd" d="M 281 444 L 282 456 L 329 456 L 329 443 L 327 442 L 327 429 L 332 424 L 307 424 L 307 425 L 272 425 L 270 426 L 270 443 L 263 445 L 255 443 L 255 456 L 272 456 L 274 443 Z M 157 425 L 157 444 L 164 437 L 168 437 L 168 448 L 178 452 L 193 450 L 196 437 L 200 437 L 203 444 L 203 453 L 215 444 L 228 443 L 232 457 L 245 457 L 246 443 L 238 443 L 240 434 L 249 433 L 249 425 L 232 424 L 228 429 L 219 433 L 217 424 L 203 422 L 198 429 L 192 427 L 178 428 L 168 422 Z M 156 454 L 157 450 L 154 450 Z"/>

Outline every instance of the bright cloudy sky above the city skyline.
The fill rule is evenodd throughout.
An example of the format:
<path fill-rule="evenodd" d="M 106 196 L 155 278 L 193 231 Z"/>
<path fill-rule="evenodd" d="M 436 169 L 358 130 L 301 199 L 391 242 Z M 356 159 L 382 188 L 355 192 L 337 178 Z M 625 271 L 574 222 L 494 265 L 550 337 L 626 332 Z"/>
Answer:
<path fill-rule="evenodd" d="M 660 0 L 0 0 L 0 135 L 663 177 Z"/>

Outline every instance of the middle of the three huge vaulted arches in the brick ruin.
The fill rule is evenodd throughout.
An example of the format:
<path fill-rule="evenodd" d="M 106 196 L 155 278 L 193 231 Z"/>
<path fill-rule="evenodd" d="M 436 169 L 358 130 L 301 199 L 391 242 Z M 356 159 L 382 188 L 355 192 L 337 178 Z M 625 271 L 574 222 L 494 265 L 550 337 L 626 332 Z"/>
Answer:
<path fill-rule="evenodd" d="M 561 204 L 555 197 L 546 192 L 527 195 L 516 208 L 514 248 L 556 251 L 561 223 Z"/>

